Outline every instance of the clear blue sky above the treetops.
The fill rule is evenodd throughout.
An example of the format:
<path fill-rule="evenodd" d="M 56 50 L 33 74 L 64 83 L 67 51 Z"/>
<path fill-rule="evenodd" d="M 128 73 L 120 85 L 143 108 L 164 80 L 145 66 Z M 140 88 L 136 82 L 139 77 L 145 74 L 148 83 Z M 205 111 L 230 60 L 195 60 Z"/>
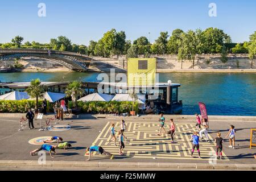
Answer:
<path fill-rule="evenodd" d="M 39 18 L 38 4 L 46 4 L 46 17 Z M 209 3 L 216 3 L 217 17 L 209 17 Z M 256 1 L 246 0 L 0 0 L 0 42 L 16 35 L 24 41 L 48 43 L 59 35 L 72 43 L 88 45 L 104 32 L 125 31 L 127 39 L 149 36 L 160 31 L 184 31 L 217 27 L 233 42 L 249 40 L 256 31 Z"/>

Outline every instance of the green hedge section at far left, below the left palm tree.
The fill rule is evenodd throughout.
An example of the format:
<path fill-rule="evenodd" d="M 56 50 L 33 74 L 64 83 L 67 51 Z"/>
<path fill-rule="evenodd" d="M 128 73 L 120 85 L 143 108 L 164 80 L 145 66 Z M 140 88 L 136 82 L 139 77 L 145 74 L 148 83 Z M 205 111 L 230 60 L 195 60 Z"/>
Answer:
<path fill-rule="evenodd" d="M 34 108 L 36 104 L 35 100 L 19 100 L 19 101 L 0 101 L 1 113 L 26 113 L 28 109 Z M 38 101 L 39 105 L 42 105 L 42 101 Z M 52 103 L 47 103 L 47 111 L 52 112 Z"/>

